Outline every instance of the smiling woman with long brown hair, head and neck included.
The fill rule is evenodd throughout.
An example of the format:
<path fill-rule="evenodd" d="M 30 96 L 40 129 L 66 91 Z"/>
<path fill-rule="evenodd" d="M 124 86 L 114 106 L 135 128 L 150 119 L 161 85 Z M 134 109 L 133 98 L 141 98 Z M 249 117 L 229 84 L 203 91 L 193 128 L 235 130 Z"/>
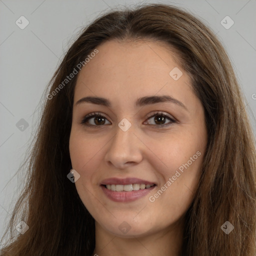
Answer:
<path fill-rule="evenodd" d="M 198 19 L 163 4 L 99 17 L 46 98 L 9 224 L 23 234 L 1 255 L 255 255 L 255 143 Z"/>

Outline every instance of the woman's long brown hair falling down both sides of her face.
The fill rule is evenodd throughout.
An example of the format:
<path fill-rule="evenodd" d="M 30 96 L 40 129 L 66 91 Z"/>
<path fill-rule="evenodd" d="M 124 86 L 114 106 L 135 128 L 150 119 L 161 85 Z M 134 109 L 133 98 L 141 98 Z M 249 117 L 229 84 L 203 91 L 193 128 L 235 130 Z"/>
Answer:
<path fill-rule="evenodd" d="M 148 4 L 110 11 L 81 31 L 54 73 L 50 93 L 99 44 L 110 39 L 166 43 L 191 76 L 194 93 L 204 107 L 207 148 L 199 186 L 185 215 L 182 255 L 254 256 L 255 140 L 243 94 L 222 45 L 209 28 L 177 7 Z M 68 141 L 76 77 L 50 99 L 45 98 L 26 170 L 27 183 L 5 232 L 11 235 L 2 256 L 93 252 L 94 219 L 66 177 L 71 167 Z M 15 237 L 17 220 L 24 220 L 29 229 Z M 220 228 L 225 221 L 234 226 L 229 234 Z"/>

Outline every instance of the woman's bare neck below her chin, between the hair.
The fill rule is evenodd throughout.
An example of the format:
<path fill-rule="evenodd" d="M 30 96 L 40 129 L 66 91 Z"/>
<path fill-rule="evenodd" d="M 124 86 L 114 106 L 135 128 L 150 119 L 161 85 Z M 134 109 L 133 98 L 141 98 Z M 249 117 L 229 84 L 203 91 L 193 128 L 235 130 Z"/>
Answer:
<path fill-rule="evenodd" d="M 95 221 L 95 256 L 179 256 L 183 239 L 183 221 L 157 233 L 125 238 L 113 235 Z"/>

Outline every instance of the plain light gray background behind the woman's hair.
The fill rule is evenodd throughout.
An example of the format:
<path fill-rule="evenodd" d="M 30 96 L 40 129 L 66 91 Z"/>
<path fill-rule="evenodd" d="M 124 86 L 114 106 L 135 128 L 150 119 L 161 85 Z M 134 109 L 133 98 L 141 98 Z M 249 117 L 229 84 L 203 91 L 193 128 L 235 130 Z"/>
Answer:
<path fill-rule="evenodd" d="M 39 100 L 63 52 L 105 10 L 139 2 L 183 7 L 210 26 L 230 56 L 250 118 L 255 116 L 256 0 L 0 0 L 0 237 L 22 187 L 22 175 L 14 174 L 33 137 Z M 15 23 L 22 15 L 29 21 L 24 29 Z M 220 23 L 226 15 L 234 21 L 229 29 Z"/>

